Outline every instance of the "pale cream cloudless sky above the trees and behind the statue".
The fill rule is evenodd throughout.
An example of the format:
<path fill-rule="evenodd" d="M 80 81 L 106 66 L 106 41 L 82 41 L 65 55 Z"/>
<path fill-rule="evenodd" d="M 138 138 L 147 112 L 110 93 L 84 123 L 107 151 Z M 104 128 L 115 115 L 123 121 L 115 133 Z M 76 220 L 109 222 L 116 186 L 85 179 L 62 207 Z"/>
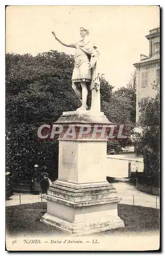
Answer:
<path fill-rule="evenodd" d="M 149 30 L 159 27 L 158 6 L 8 6 L 6 52 L 18 54 L 58 50 L 74 54 L 56 41 L 81 39 L 79 28 L 90 31 L 100 52 L 100 72 L 115 89 L 126 86 L 140 54 L 149 54 Z"/>

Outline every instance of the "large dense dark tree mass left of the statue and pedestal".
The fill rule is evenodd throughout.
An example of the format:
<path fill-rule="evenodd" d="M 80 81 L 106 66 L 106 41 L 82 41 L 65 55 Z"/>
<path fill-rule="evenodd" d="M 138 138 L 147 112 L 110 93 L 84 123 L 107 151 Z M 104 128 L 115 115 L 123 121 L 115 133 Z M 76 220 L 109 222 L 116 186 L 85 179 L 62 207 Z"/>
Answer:
<path fill-rule="evenodd" d="M 35 163 L 57 177 L 58 142 L 37 141 L 36 131 L 79 104 L 70 82 L 73 61 L 57 51 L 6 55 L 6 160 L 17 181 L 30 179 Z"/>

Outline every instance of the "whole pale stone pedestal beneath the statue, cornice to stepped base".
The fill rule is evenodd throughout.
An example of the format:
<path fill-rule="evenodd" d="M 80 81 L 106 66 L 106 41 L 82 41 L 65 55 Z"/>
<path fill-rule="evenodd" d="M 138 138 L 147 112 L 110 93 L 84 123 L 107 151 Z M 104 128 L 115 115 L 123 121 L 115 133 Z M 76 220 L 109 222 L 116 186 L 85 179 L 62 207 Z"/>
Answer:
<path fill-rule="evenodd" d="M 55 124 L 55 123 L 54 123 Z M 76 137 L 59 138 L 59 178 L 48 189 L 47 212 L 41 221 L 72 234 L 124 227 L 118 217 L 117 191 L 106 181 L 106 132 L 94 136 L 96 124 L 108 129 L 111 122 L 99 113 L 64 112 L 56 124 L 73 125 Z M 78 136 L 81 126 L 91 133 Z M 76 127 L 76 128 L 75 128 Z"/>

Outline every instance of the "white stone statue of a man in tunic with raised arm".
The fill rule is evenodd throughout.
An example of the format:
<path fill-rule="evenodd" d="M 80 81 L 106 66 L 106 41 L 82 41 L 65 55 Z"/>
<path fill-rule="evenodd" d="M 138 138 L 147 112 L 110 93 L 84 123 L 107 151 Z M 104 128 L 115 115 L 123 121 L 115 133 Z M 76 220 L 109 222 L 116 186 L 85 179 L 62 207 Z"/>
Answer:
<path fill-rule="evenodd" d="M 89 39 L 89 30 L 80 28 L 80 36 L 82 40 L 75 44 L 65 44 L 52 32 L 54 38 L 62 45 L 76 49 L 75 63 L 72 74 L 72 88 L 81 102 L 80 108 L 77 111 L 88 110 L 87 96 L 88 88 L 92 90 L 91 110 L 100 112 L 100 79 L 101 75 L 97 73 L 97 60 L 99 52 L 97 47 Z"/>

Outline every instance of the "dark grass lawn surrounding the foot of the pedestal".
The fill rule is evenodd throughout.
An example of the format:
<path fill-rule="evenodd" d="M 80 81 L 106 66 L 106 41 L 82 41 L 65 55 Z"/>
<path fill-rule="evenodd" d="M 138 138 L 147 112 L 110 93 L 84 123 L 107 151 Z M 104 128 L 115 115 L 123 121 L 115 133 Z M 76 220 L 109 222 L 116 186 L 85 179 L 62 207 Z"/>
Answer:
<path fill-rule="evenodd" d="M 6 207 L 6 231 L 14 236 L 52 236 L 63 235 L 64 232 L 40 222 L 46 212 L 47 204 L 23 204 Z M 159 210 L 149 207 L 118 205 L 118 215 L 125 227 L 104 231 L 108 234 L 121 233 L 155 233 L 159 231 Z"/>

